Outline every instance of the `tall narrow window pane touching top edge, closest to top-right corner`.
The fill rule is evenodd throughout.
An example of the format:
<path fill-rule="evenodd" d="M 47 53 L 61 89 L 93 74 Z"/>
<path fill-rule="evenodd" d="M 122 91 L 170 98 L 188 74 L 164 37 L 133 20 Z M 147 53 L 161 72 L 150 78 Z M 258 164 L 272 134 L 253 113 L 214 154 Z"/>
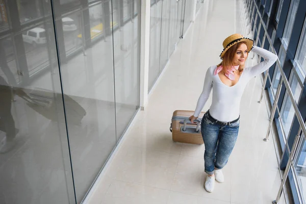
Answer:
<path fill-rule="evenodd" d="M 285 40 L 285 43 L 287 43 L 287 45 L 291 37 L 298 4 L 299 4 L 299 0 L 291 1 L 289 14 L 288 14 L 287 21 L 286 21 L 285 32 L 283 36 L 283 40 Z"/>

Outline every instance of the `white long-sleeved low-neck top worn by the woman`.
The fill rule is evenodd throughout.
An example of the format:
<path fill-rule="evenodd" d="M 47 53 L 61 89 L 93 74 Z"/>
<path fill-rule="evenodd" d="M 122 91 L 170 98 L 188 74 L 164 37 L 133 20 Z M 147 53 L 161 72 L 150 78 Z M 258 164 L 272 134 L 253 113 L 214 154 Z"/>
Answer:
<path fill-rule="evenodd" d="M 194 112 L 195 117 L 199 116 L 212 88 L 213 100 L 209 109 L 210 115 L 221 122 L 230 122 L 239 117 L 241 96 L 247 83 L 256 75 L 266 71 L 277 60 L 277 56 L 266 49 L 254 46 L 251 51 L 263 57 L 264 61 L 255 66 L 244 68 L 239 81 L 234 86 L 230 87 L 223 84 L 219 75 L 214 75 L 214 71 L 217 68 L 216 65 L 208 68 L 203 91 L 197 101 Z"/>

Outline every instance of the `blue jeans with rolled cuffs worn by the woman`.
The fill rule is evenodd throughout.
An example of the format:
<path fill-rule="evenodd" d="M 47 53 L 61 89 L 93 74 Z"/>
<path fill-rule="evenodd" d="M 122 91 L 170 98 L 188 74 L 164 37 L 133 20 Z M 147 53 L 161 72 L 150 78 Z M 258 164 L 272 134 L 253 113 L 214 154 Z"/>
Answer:
<path fill-rule="evenodd" d="M 221 125 L 215 122 L 207 112 L 201 122 L 201 133 L 205 144 L 204 163 L 205 172 L 214 174 L 214 169 L 222 169 L 230 157 L 235 146 L 239 123 Z"/>

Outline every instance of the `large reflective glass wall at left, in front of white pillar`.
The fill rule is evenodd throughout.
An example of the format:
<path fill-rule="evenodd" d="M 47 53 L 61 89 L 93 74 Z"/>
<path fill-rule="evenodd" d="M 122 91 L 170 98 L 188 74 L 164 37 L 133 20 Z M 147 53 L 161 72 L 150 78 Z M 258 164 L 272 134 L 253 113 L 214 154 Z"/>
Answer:
<path fill-rule="evenodd" d="M 80 203 L 139 108 L 140 1 L 0 7 L 0 203 Z"/>

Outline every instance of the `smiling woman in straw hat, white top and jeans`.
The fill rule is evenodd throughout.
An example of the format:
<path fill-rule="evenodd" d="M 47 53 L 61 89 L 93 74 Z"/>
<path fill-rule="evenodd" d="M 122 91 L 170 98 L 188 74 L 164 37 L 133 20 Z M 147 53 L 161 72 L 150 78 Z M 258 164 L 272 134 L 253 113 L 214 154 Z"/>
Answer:
<path fill-rule="evenodd" d="M 210 109 L 201 122 L 201 133 L 205 144 L 205 172 L 208 174 L 205 189 L 213 192 L 215 180 L 224 182 L 221 169 L 236 143 L 239 130 L 240 100 L 244 88 L 250 79 L 266 71 L 277 60 L 277 56 L 268 50 L 253 45 L 254 41 L 234 34 L 223 41 L 222 62 L 211 66 L 204 81 L 203 91 L 197 101 L 191 122 L 198 118 L 213 88 L 213 100 Z M 252 50 L 264 58 L 264 61 L 244 68 L 248 53 Z"/>

